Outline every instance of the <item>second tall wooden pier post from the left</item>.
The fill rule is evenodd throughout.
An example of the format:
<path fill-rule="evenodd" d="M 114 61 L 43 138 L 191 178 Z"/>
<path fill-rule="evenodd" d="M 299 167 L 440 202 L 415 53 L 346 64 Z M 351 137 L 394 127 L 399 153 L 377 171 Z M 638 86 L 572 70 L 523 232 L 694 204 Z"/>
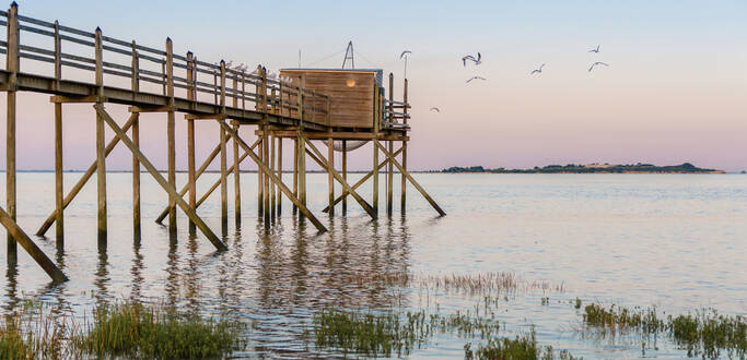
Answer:
<path fill-rule="evenodd" d="M 55 21 L 55 86 L 59 87 L 62 80 L 62 48 L 60 40 L 60 25 Z M 55 103 L 55 208 L 57 209 L 56 238 L 57 249 L 65 245 L 65 183 L 62 175 L 62 103 Z"/>

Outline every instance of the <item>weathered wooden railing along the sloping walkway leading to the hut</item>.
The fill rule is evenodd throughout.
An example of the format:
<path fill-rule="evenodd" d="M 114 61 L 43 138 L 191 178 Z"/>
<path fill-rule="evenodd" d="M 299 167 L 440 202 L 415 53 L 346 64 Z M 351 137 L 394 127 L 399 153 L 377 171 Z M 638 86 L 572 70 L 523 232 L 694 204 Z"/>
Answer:
<path fill-rule="evenodd" d="M 253 72 L 231 69 L 224 61 L 210 63 L 199 60 L 192 52 L 186 56 L 173 53 L 173 44 L 166 38 L 164 49 L 155 49 L 103 35 L 101 28 L 93 33 L 54 23 L 16 15 L 15 4 L 0 11 L 0 25 L 15 28 L 15 37 L 0 41 L 0 53 L 15 53 L 20 72 L 20 59 L 37 63 L 51 63 L 55 80 L 62 77 L 65 68 L 89 77 L 83 82 L 97 86 L 127 87 L 133 93 L 149 93 L 190 101 L 212 103 L 221 107 L 254 110 L 264 113 L 299 119 L 317 124 L 328 124 L 329 98 L 303 88 L 302 79 L 281 82 L 268 79 L 267 70 L 257 67 Z M 9 25 L 10 24 L 10 25 Z M 8 34 L 8 32 L 4 32 Z M 26 36 L 31 35 L 31 36 Z M 24 41 L 26 37 L 34 41 Z M 52 46 L 49 46 L 51 39 Z M 39 45 L 43 44 L 43 45 Z M 71 50 L 63 50 L 71 49 Z M 85 55 L 87 53 L 87 55 Z M 93 55 L 93 56 L 92 56 Z M 24 65 L 26 65 L 24 63 Z M 33 73 L 38 65 L 30 64 Z M 24 67 L 25 68 L 25 67 Z M 81 72 L 82 71 L 82 72 Z M 87 74 L 87 75 L 86 75 Z M 104 84 L 104 74 L 114 76 Z M 93 82 L 90 79 L 94 79 Z M 150 85 L 150 88 L 141 85 Z M 116 86 L 119 85 L 119 86 Z M 122 86 L 124 85 L 124 86 Z"/>

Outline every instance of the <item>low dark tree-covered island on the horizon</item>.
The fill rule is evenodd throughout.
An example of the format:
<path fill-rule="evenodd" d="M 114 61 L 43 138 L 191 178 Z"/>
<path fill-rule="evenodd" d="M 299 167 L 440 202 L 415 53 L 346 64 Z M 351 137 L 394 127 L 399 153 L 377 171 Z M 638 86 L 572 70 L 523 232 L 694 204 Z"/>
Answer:
<path fill-rule="evenodd" d="M 482 166 L 460 167 L 453 166 L 441 172 L 491 172 L 491 173 L 626 173 L 626 172 L 668 172 L 668 173 L 722 173 L 722 170 L 699 168 L 690 163 L 673 166 L 656 166 L 653 164 L 629 164 L 629 165 L 610 165 L 610 164 L 568 164 L 568 165 L 548 165 L 545 167 L 534 167 L 532 169 L 506 169 L 495 168 L 487 169 Z"/>

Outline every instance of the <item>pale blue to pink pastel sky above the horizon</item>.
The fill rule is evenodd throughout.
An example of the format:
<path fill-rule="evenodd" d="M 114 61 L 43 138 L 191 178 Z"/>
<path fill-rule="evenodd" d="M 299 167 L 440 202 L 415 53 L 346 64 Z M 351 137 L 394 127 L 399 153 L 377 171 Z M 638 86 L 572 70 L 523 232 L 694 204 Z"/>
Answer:
<path fill-rule="evenodd" d="M 271 70 L 297 65 L 299 49 L 304 67 L 339 68 L 352 40 L 357 67 L 395 73 L 397 97 L 404 70 L 398 57 L 409 49 L 412 169 L 596 161 L 747 169 L 747 1 L 19 4 L 27 16 L 59 19 L 77 28 L 101 26 L 105 35 L 160 48 L 171 36 L 176 52 Z M 587 52 L 597 44 L 600 53 Z M 460 57 L 477 51 L 483 63 L 464 68 Z M 594 61 L 610 67 L 590 73 Z M 530 76 L 541 63 L 547 63 L 542 74 Z M 474 75 L 487 81 L 465 84 Z M 4 109 L 5 97 L 0 98 Z M 22 94 L 19 101 L 19 168 L 51 169 L 48 95 Z M 127 116 L 124 107 L 109 109 L 120 121 Z M 93 120 L 90 105 L 66 107 L 66 168 L 86 168 L 93 160 Z M 145 153 L 163 168 L 165 115 L 149 115 L 143 122 Z M 203 157 L 218 128 L 200 123 L 198 132 Z M 185 134 L 185 121 L 177 121 L 180 168 Z M 253 136 L 252 129 L 243 134 Z M 4 153 L 4 125 L 0 135 Z M 371 148 L 362 147 L 351 154 L 351 168 L 370 168 L 370 159 Z M 4 167 L 4 156 L 0 164 Z M 128 169 L 129 154 L 120 147 L 107 164 Z"/>

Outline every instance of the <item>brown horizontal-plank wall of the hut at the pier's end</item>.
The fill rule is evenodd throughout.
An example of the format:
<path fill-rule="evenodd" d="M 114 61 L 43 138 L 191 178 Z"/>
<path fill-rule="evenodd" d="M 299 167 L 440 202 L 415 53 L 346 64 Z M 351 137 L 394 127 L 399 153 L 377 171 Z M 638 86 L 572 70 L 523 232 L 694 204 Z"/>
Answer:
<path fill-rule="evenodd" d="M 343 128 L 373 128 L 375 73 L 363 71 L 281 70 L 294 84 L 299 75 L 304 87 L 329 96 L 330 124 Z M 348 81 L 355 82 L 348 86 Z"/>

